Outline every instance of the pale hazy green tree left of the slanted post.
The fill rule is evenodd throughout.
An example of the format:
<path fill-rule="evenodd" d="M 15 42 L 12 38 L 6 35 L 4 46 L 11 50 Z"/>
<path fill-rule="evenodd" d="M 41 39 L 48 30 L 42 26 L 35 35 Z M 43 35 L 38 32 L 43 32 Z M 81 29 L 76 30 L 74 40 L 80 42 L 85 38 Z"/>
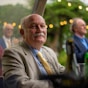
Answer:
<path fill-rule="evenodd" d="M 15 22 L 14 36 L 18 37 L 18 25 L 20 24 L 20 20 L 30 13 L 31 9 L 28 9 L 21 4 L 0 6 L 0 29 L 2 30 L 4 22 Z M 2 36 L 2 31 L 0 32 L 0 36 Z"/>

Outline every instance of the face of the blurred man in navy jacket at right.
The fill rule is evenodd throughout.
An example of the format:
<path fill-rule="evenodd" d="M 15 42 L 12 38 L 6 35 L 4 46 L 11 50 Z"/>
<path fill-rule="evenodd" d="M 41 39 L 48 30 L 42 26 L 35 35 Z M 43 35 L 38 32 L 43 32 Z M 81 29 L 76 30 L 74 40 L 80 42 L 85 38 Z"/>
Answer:
<path fill-rule="evenodd" d="M 82 36 L 87 33 L 86 23 L 83 20 L 79 19 L 77 21 L 77 26 L 76 26 L 75 32 Z"/>

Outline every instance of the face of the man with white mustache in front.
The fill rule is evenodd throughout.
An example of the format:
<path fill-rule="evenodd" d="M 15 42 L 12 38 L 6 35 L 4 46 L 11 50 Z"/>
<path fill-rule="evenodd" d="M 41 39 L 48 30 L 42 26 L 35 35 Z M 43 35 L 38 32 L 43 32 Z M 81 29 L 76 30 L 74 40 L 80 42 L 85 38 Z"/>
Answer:
<path fill-rule="evenodd" d="M 24 37 L 31 46 L 42 45 L 47 39 L 47 28 L 44 19 L 39 15 L 32 16 L 24 31 Z"/>

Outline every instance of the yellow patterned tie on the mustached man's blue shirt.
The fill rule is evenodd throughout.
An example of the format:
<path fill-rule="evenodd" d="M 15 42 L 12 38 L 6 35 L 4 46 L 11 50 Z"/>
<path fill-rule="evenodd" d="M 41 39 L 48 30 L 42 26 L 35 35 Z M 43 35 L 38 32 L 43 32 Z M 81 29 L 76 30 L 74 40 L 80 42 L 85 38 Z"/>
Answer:
<path fill-rule="evenodd" d="M 44 66 L 45 70 L 47 71 L 47 73 L 50 75 L 50 74 L 53 74 L 49 64 L 47 63 L 46 59 L 42 56 L 42 53 L 41 52 L 38 52 L 37 53 L 37 56 L 40 60 L 40 62 L 42 63 L 42 65 Z"/>

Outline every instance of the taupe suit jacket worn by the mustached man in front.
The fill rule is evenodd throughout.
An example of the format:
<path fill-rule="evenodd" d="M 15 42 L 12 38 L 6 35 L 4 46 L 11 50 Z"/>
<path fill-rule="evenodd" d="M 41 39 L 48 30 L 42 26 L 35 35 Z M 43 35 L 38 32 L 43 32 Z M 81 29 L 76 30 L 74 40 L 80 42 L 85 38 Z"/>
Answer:
<path fill-rule="evenodd" d="M 42 53 L 55 74 L 64 71 L 50 48 L 43 46 Z M 39 80 L 41 73 L 31 50 L 24 42 L 5 50 L 2 64 L 6 88 L 53 88 L 50 81 Z"/>

